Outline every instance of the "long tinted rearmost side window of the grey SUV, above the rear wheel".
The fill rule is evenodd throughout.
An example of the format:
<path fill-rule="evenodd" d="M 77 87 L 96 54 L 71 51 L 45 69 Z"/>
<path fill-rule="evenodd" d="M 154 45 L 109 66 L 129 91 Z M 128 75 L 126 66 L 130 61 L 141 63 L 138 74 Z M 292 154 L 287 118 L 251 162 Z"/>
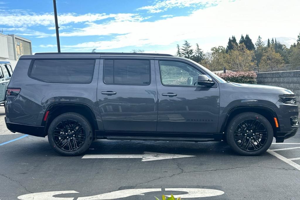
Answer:
<path fill-rule="evenodd" d="M 35 60 L 30 75 L 46 82 L 90 83 L 94 62 L 94 59 Z"/>

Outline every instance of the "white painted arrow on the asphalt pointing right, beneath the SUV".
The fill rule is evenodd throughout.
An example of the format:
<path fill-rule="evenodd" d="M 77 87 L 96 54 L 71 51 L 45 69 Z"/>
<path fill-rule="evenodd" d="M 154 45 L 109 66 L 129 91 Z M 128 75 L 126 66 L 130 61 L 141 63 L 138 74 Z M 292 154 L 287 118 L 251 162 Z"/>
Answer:
<path fill-rule="evenodd" d="M 193 157 L 193 156 L 169 154 L 169 153 L 144 152 L 144 154 L 84 155 L 82 158 L 142 158 L 142 161 L 151 161 L 151 160 L 163 160 L 163 159 L 185 158 L 185 157 Z"/>

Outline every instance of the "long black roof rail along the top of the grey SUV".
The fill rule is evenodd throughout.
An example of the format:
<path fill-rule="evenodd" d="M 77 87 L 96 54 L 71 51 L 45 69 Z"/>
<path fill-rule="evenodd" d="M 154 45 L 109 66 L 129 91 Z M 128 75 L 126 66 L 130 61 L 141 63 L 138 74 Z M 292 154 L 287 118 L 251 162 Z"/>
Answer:
<path fill-rule="evenodd" d="M 170 54 L 163 54 L 163 53 L 109 53 L 109 52 L 104 52 L 104 53 L 80 53 L 80 52 L 70 52 L 70 53 L 35 53 L 35 55 L 131 55 L 131 56 L 173 56 Z"/>

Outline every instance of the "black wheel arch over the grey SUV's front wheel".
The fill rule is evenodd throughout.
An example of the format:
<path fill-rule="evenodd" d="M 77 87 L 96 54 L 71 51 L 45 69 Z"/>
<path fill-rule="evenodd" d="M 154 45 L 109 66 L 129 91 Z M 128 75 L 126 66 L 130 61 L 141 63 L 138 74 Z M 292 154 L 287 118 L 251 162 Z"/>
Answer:
<path fill-rule="evenodd" d="M 279 121 L 278 121 L 278 125 L 279 125 L 278 128 L 276 128 L 276 126 L 275 126 L 274 117 L 276 117 L 277 120 L 278 120 L 278 117 L 272 108 L 269 108 L 267 106 L 260 106 L 260 105 L 241 105 L 241 106 L 235 106 L 227 112 L 226 117 L 223 120 L 221 129 L 220 129 L 220 133 L 226 133 L 226 128 L 227 128 L 227 125 L 229 124 L 230 120 L 237 114 L 243 113 L 243 112 L 254 112 L 254 113 L 261 114 L 262 116 L 267 118 L 267 120 L 270 122 L 270 124 L 274 130 L 274 135 L 276 132 L 280 131 Z"/>

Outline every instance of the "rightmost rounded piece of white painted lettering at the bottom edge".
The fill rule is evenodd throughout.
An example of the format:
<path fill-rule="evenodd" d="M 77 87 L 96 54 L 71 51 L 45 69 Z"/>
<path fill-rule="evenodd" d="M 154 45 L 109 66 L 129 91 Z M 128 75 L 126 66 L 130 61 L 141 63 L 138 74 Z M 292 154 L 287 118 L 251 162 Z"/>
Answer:
<path fill-rule="evenodd" d="M 183 191 L 188 192 L 183 195 L 174 195 L 175 198 L 199 198 L 199 197 L 209 197 L 218 196 L 224 194 L 223 191 L 217 189 L 203 189 L 203 188 L 166 188 L 165 191 Z M 171 195 L 166 195 L 170 197 Z"/>

